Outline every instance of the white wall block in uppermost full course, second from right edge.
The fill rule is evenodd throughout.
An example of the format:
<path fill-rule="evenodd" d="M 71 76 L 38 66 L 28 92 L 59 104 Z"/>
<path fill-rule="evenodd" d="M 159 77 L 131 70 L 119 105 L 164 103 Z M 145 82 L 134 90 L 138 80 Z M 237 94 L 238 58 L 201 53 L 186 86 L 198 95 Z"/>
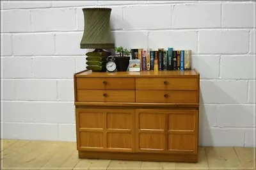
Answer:
<path fill-rule="evenodd" d="M 202 15 L 204 13 L 204 15 Z M 221 4 L 179 4 L 173 6 L 173 28 L 220 27 Z"/>

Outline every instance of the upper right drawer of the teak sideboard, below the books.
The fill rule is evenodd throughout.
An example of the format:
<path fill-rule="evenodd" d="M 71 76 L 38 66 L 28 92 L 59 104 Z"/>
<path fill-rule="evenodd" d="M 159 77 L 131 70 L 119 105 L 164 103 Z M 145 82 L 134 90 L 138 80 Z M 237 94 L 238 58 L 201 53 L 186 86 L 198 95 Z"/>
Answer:
<path fill-rule="evenodd" d="M 196 90 L 198 81 L 195 78 L 137 78 L 136 89 L 180 89 Z"/>

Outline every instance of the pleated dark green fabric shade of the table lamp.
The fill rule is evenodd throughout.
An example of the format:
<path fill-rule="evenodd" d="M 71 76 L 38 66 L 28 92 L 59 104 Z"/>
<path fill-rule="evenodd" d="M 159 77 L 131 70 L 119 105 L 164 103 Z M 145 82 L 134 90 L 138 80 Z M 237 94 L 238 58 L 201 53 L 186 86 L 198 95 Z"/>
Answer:
<path fill-rule="evenodd" d="M 113 49 L 115 43 L 110 29 L 111 8 L 83 8 L 84 33 L 81 49 Z"/>

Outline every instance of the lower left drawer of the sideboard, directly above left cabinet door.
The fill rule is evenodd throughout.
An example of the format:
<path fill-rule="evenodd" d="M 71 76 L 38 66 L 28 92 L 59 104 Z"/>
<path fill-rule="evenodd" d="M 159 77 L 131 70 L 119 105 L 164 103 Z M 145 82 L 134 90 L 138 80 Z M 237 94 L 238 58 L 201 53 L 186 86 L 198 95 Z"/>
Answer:
<path fill-rule="evenodd" d="M 134 90 L 77 90 L 78 102 L 135 102 Z"/>

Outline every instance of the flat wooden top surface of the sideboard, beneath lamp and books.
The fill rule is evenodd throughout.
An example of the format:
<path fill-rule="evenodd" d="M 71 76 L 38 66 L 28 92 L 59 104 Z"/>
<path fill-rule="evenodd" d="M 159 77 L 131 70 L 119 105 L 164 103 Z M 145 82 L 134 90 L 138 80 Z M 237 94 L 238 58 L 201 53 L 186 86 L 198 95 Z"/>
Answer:
<path fill-rule="evenodd" d="M 199 77 L 199 73 L 194 70 L 172 70 L 172 71 L 141 71 L 141 72 L 92 72 L 83 70 L 75 73 L 76 77 Z"/>

